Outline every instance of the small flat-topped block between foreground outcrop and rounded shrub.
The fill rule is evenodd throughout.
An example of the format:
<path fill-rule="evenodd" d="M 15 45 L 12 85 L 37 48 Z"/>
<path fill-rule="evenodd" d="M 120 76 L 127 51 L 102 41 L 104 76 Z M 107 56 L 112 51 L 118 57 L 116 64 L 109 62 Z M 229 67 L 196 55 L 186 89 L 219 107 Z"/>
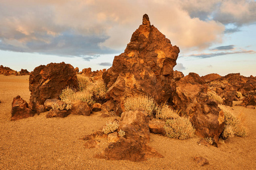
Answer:
<path fill-rule="evenodd" d="M 150 132 L 154 134 L 166 135 L 166 130 L 164 130 L 164 125 L 166 125 L 165 121 L 152 119 L 148 122 L 148 126 L 150 128 Z"/>

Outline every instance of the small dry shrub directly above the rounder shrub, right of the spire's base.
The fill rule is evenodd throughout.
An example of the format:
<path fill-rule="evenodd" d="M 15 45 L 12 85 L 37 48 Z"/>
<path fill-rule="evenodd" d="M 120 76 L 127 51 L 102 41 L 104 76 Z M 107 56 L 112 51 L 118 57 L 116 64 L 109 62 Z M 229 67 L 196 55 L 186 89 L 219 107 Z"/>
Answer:
<path fill-rule="evenodd" d="M 156 118 L 162 120 L 178 118 L 179 115 L 176 111 L 173 111 L 168 105 L 164 104 L 156 109 Z"/>

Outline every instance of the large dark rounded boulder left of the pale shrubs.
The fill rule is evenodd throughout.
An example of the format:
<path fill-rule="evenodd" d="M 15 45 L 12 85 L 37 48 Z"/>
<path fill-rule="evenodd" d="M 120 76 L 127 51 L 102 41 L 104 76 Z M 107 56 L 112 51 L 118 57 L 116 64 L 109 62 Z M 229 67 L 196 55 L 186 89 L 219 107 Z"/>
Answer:
<path fill-rule="evenodd" d="M 38 111 L 47 99 L 59 99 L 61 90 L 65 87 L 77 88 L 76 71 L 70 64 L 49 63 L 41 65 L 30 74 L 30 108 Z"/>

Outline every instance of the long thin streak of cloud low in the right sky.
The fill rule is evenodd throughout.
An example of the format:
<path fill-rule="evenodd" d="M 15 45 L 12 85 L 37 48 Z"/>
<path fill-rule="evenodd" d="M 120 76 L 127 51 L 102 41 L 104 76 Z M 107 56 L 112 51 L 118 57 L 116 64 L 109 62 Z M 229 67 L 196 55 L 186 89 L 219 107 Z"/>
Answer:
<path fill-rule="evenodd" d="M 217 56 L 224 56 L 228 54 L 255 54 L 254 50 L 241 50 L 236 52 L 220 52 L 220 53 L 203 53 L 203 54 L 191 54 L 189 57 L 196 57 L 196 58 L 210 58 L 210 57 L 217 57 Z"/>

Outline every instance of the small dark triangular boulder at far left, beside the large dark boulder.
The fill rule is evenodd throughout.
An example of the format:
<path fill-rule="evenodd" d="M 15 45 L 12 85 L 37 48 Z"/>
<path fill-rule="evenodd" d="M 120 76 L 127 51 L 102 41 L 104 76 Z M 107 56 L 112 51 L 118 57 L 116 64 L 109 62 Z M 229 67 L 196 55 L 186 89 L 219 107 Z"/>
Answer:
<path fill-rule="evenodd" d="M 20 96 L 16 96 L 11 104 L 11 121 L 33 117 L 35 112 L 28 108 L 28 104 Z"/>

